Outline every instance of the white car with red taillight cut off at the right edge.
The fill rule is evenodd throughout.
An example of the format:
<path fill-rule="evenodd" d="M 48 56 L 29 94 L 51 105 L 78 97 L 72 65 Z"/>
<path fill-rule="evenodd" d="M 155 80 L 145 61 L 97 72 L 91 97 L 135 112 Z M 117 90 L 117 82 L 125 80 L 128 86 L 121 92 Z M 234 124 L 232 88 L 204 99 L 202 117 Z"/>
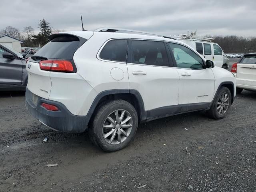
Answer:
<path fill-rule="evenodd" d="M 232 65 L 231 72 L 236 77 L 236 92 L 256 91 L 256 53 L 244 54 L 239 62 Z"/>

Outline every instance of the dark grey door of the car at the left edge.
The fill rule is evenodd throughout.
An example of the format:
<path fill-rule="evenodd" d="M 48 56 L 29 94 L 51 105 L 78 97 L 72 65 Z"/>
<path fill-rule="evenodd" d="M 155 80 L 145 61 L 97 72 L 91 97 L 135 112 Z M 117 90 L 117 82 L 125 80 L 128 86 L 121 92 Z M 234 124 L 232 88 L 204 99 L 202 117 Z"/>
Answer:
<path fill-rule="evenodd" d="M 6 52 L 8 51 L 0 47 L 0 86 L 21 86 L 22 62 L 16 56 L 15 59 L 3 58 Z"/>

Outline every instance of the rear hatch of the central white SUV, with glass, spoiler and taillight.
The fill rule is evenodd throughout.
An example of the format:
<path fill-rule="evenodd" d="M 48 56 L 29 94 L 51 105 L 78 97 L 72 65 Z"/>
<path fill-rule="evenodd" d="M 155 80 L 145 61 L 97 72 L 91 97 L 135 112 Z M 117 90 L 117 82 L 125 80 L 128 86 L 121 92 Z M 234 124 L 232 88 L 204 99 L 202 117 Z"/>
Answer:
<path fill-rule="evenodd" d="M 84 34 L 89 39 L 93 32 L 84 32 Z M 51 92 L 51 71 L 76 73 L 73 55 L 87 40 L 66 33 L 52 34 L 49 38 L 51 41 L 38 50 L 26 63 L 28 90 L 46 99 L 49 98 Z"/>

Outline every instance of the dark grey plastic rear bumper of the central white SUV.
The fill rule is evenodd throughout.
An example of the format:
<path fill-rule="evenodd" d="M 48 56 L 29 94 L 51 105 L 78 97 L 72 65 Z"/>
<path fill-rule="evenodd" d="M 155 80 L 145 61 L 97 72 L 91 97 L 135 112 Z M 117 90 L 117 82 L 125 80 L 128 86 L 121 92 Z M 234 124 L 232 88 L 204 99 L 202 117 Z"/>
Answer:
<path fill-rule="evenodd" d="M 42 102 L 58 107 L 58 111 L 50 111 L 42 107 Z M 46 126 L 61 132 L 84 132 L 88 125 L 87 116 L 72 114 L 62 103 L 41 98 L 26 88 L 26 108 L 32 116 Z"/>

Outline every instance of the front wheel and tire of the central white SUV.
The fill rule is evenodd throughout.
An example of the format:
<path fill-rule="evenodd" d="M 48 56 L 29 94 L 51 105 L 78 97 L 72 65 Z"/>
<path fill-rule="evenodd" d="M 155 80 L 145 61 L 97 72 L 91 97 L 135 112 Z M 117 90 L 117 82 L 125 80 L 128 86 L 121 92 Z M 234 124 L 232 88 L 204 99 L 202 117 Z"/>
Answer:
<path fill-rule="evenodd" d="M 225 98 L 225 96 L 226 96 L 226 99 L 228 98 L 226 102 L 224 102 L 226 99 L 222 100 L 222 98 Z M 221 87 L 212 102 L 212 106 L 208 111 L 208 115 L 213 119 L 224 118 L 228 112 L 228 109 L 230 108 L 231 99 L 232 99 L 232 96 L 231 96 L 230 90 L 226 87 Z"/>

